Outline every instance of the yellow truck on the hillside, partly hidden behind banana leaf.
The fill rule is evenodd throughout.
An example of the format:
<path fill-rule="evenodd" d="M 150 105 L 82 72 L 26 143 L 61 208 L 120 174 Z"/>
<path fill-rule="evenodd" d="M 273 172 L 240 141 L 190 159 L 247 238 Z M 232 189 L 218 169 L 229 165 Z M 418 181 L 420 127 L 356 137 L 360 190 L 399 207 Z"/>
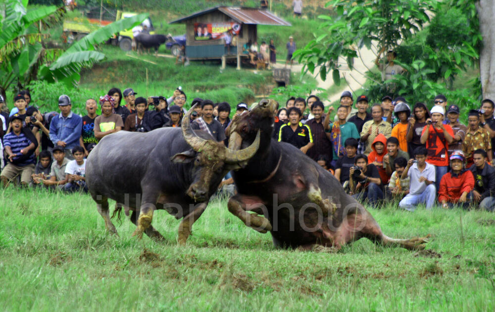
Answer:
<path fill-rule="evenodd" d="M 105 9 L 104 14 L 102 14 L 99 7 L 90 9 L 82 16 L 67 18 L 64 20 L 64 38 L 66 38 L 67 43 L 72 43 L 72 41 L 80 40 L 89 33 L 98 30 L 100 27 L 137 14 L 138 13 L 124 12 L 121 10 L 117 10 L 113 13 L 107 9 Z M 141 26 L 145 25 L 148 27 L 149 33 L 151 35 L 154 34 L 154 27 L 149 17 L 141 23 Z M 115 34 L 113 38 L 108 39 L 107 43 L 111 43 L 113 45 L 118 44 L 122 50 L 129 51 L 132 48 L 133 38 L 134 36 L 132 34 L 132 30 L 127 29 L 121 31 L 119 34 Z"/>

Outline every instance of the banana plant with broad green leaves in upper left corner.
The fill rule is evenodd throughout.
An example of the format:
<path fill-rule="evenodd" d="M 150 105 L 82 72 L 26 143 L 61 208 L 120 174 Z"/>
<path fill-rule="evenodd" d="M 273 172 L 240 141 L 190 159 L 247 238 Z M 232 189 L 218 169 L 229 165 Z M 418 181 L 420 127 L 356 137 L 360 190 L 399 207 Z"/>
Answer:
<path fill-rule="evenodd" d="M 46 48 L 42 27 L 60 22 L 65 10 L 55 6 L 27 9 L 28 0 L 6 0 L 4 18 L 0 16 L 0 94 L 13 83 L 23 88 L 33 79 L 60 81 L 77 85 L 85 66 L 102 60 L 105 55 L 95 45 L 122 30 L 130 29 L 148 17 L 138 14 L 111 23 L 75 42 L 67 50 Z"/>

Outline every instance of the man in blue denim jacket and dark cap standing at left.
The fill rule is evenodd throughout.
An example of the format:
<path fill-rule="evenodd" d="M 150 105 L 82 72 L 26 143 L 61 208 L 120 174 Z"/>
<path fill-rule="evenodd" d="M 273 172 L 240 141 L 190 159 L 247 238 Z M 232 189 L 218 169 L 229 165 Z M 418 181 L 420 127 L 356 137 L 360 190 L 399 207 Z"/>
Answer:
<path fill-rule="evenodd" d="M 74 157 L 70 150 L 79 146 L 83 121 L 79 115 L 71 112 L 72 105 L 67 95 L 58 98 L 58 108 L 60 114 L 51 119 L 50 140 L 53 145 L 62 146 L 65 149 L 65 157 L 72 160 Z"/>

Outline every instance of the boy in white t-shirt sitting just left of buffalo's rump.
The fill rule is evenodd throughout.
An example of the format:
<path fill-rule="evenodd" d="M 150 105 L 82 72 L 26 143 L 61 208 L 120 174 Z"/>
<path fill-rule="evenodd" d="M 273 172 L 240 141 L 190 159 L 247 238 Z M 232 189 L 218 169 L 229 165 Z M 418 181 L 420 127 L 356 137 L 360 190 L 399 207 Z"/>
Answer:
<path fill-rule="evenodd" d="M 72 149 L 74 160 L 67 163 L 65 167 L 65 177 L 67 183 L 63 190 L 67 193 L 82 191 L 88 193 L 86 186 L 86 158 L 84 158 L 84 149 L 76 146 Z"/>

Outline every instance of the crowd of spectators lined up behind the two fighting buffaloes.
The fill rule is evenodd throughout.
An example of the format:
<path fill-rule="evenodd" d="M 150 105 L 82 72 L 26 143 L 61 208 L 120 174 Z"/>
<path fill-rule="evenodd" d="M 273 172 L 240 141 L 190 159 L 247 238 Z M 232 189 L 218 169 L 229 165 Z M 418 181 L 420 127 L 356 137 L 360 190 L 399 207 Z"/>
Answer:
<path fill-rule="evenodd" d="M 44 114 L 28 91 L 14 96 L 10 111 L 0 97 L 2 185 L 87 192 L 85 159 L 104 136 L 181 125 L 187 102 L 181 87 L 168 98 L 136 95 L 132 88 L 112 88 L 98 100 L 88 99 L 83 117 L 72 112 L 67 95 L 59 97 L 58 112 Z M 195 98 L 195 104 L 192 128 L 227 145 L 229 103 Z M 361 95 L 354 105 L 352 93 L 345 91 L 333 121 L 334 108 L 326 110 L 315 95 L 291 97 L 285 104 L 277 110 L 274 139 L 294 145 L 330 171 L 357 200 L 375 207 L 396 201 L 410 211 L 418 204 L 494 210 L 492 100 L 467 112 L 467 126 L 459 121 L 459 107 L 441 94 L 428 109 L 421 102 L 410 108 L 404 98 L 390 96 L 370 105 Z M 235 115 L 248 109 L 239 103 Z"/>

